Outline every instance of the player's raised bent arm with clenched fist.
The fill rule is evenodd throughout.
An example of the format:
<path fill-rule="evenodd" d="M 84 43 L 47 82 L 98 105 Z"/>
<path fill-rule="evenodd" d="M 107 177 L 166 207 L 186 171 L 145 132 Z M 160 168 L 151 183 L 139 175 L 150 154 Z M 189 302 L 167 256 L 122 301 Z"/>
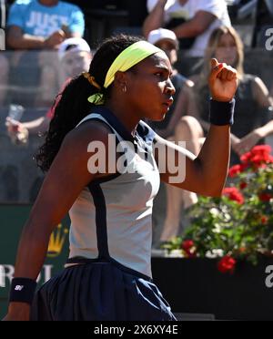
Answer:
<path fill-rule="evenodd" d="M 236 70 L 225 64 L 218 65 L 217 60 L 213 59 L 209 87 L 214 100 L 211 110 L 213 121 L 197 158 L 186 149 L 157 137 L 158 145 L 167 153 L 165 171 L 162 171 L 158 151 L 156 159 L 162 181 L 198 194 L 219 196 L 227 179 L 230 102 L 238 87 Z"/>

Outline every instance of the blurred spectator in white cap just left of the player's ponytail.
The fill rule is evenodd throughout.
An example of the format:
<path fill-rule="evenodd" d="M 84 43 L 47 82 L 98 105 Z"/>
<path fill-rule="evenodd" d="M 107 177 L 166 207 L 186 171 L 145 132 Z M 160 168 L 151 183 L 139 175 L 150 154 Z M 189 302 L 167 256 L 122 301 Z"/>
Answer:
<path fill-rule="evenodd" d="M 58 56 L 62 70 L 66 76 L 66 82 L 61 88 L 62 92 L 73 77 L 89 70 L 92 53 L 90 47 L 86 43 L 86 40 L 79 37 L 71 37 L 66 39 L 59 46 Z M 55 108 L 60 98 L 61 93 L 57 95 L 53 108 L 48 110 L 45 117 L 24 123 L 6 118 L 6 127 L 10 137 L 15 138 L 18 132 L 25 129 L 27 129 L 30 134 L 45 132 L 49 126 L 50 120 L 54 117 Z"/>

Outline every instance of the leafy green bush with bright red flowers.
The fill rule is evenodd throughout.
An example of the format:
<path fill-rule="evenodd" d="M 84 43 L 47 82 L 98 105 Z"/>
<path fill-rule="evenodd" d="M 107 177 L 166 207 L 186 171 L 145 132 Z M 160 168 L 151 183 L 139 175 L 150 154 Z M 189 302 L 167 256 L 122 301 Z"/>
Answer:
<path fill-rule="evenodd" d="M 189 211 L 185 234 L 167 242 L 184 257 L 220 258 L 218 270 L 233 272 L 238 260 L 256 264 L 273 254 L 273 157 L 256 146 L 229 170 L 232 183 L 221 198 L 200 197 Z"/>

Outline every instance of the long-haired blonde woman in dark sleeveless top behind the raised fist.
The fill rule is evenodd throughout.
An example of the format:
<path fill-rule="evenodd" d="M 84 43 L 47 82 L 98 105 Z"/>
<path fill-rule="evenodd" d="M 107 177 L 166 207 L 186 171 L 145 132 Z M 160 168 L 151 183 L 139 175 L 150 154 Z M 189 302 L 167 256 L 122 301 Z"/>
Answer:
<path fill-rule="evenodd" d="M 207 46 L 203 71 L 192 78 L 196 86 L 194 90 L 181 93 L 177 102 L 177 111 L 173 116 L 174 120 L 170 122 L 172 126 L 177 123 L 181 103 L 187 102 L 187 114 L 195 115 L 207 132 L 209 127 L 207 116 L 209 61 L 211 57 L 216 57 L 219 62 L 235 67 L 238 70 L 239 84 L 236 94 L 235 123 L 231 127 L 231 165 L 239 162 L 241 154 L 248 152 L 257 143 L 263 143 L 264 139 L 273 133 L 273 121 L 271 120 L 273 99 L 259 77 L 244 73 L 243 48 L 238 33 L 232 27 L 219 27 L 212 33 Z M 182 98 L 185 95 L 187 99 Z"/>

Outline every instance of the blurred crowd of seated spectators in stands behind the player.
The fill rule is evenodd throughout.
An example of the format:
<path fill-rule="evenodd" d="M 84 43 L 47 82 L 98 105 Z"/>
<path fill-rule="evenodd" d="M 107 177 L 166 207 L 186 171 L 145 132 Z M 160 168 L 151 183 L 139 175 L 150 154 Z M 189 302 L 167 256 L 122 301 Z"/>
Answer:
<path fill-rule="evenodd" d="M 273 133 L 273 0 L 0 0 L 0 24 L 6 45 L 0 53 L 0 121 L 15 145 L 46 132 L 63 88 L 88 71 L 101 38 L 119 33 L 144 36 L 171 61 L 175 104 L 165 120 L 148 122 L 163 138 L 186 141 L 197 155 L 207 135 L 212 57 L 238 70 L 231 165 Z M 251 52 L 253 67 L 245 58 Z M 25 120 L 30 108 L 44 113 Z M 0 176 L 4 167 L 5 159 Z M 173 187 L 162 188 L 159 200 L 162 194 L 164 211 L 155 204 L 158 243 L 187 227 L 181 215 L 198 200 Z"/>

